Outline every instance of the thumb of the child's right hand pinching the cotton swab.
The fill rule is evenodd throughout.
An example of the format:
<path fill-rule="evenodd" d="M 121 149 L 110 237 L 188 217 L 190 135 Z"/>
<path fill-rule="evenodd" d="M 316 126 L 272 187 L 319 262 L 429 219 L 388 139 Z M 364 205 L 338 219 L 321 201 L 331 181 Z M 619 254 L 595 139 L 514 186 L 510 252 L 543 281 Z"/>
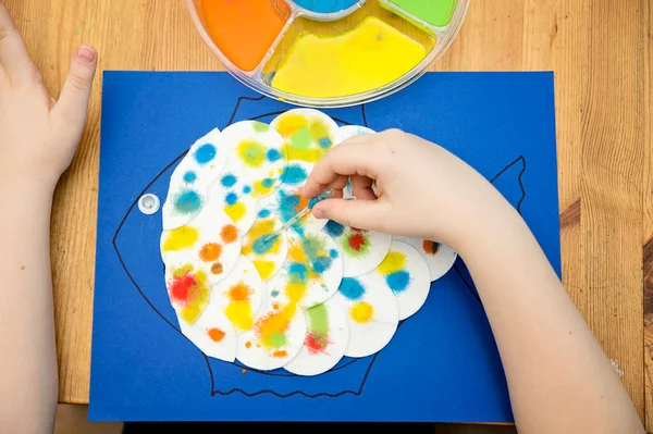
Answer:
<path fill-rule="evenodd" d="M 328 199 L 312 209 L 316 219 L 329 219 L 345 226 L 359 230 L 380 231 L 380 207 L 378 200 Z"/>

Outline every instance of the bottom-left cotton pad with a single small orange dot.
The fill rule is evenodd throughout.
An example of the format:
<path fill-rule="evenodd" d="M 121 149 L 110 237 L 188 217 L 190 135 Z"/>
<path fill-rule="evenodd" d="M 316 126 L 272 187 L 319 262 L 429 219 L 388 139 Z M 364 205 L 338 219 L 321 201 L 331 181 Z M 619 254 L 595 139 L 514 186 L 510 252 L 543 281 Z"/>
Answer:
<path fill-rule="evenodd" d="M 180 320 L 180 328 L 197 348 L 208 357 L 226 362 L 236 360 L 237 338 L 230 321 L 217 309 L 209 306 L 199 319 L 188 324 Z"/>

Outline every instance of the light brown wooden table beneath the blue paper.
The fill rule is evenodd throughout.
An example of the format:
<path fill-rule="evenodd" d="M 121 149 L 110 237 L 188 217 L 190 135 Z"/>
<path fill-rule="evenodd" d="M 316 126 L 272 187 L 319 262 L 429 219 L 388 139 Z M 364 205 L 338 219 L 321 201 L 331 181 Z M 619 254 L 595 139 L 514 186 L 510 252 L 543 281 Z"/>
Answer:
<path fill-rule="evenodd" d="M 182 0 L 4 0 L 52 92 L 75 46 L 101 70 L 221 70 Z M 436 71 L 555 71 L 566 287 L 653 429 L 653 7 L 649 0 L 472 0 Z M 60 400 L 87 402 L 101 75 L 57 191 Z M 653 330 L 648 342 L 653 349 Z M 552 357 L 554 357 L 552 355 Z M 645 361 L 645 363 L 644 363 Z"/>

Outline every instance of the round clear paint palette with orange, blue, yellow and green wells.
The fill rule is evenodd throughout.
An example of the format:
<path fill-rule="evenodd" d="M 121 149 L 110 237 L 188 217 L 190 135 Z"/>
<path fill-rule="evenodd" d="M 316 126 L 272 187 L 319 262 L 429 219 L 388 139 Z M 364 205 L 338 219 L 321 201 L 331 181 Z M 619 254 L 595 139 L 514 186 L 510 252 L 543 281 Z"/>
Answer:
<path fill-rule="evenodd" d="M 187 0 L 226 70 L 289 103 L 346 107 L 421 76 L 458 34 L 469 0 Z"/>

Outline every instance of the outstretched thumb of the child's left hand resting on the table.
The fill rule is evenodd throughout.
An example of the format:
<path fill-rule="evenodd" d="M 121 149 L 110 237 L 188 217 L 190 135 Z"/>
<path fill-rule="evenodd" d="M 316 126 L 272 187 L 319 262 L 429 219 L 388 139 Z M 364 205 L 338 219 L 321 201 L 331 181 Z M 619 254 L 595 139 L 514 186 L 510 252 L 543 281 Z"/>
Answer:
<path fill-rule="evenodd" d="M 95 48 L 88 45 L 77 48 L 59 101 L 50 114 L 57 122 L 82 128 L 97 63 L 98 54 Z"/>

